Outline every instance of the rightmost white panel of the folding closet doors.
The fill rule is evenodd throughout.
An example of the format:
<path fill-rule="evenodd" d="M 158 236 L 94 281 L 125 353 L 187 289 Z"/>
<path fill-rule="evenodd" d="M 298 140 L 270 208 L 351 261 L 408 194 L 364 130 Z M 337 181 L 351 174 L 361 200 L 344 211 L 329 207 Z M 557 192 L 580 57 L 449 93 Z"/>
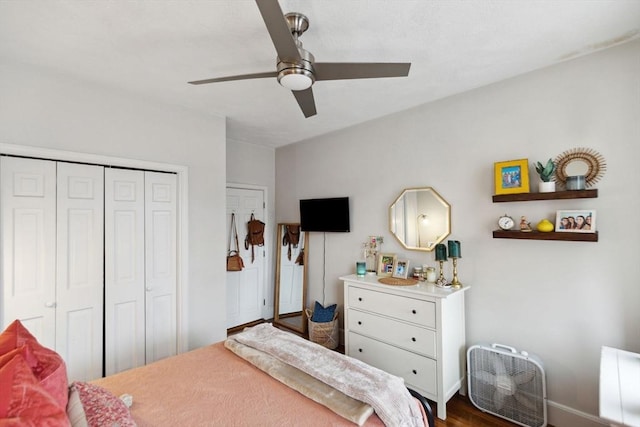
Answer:
<path fill-rule="evenodd" d="M 177 351 L 175 174 L 145 172 L 147 363 Z"/>

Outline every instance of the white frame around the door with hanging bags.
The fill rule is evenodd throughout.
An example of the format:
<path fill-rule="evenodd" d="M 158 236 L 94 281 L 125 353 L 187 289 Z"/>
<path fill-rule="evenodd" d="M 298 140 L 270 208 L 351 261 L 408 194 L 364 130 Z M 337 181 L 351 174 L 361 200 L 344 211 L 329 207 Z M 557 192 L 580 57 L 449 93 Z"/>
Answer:
<path fill-rule="evenodd" d="M 236 188 L 239 190 L 258 190 L 264 194 L 264 222 L 266 224 L 264 229 L 264 242 L 267 256 L 265 257 L 264 265 L 264 277 L 263 277 L 263 289 L 262 296 L 265 300 L 265 304 L 262 306 L 262 318 L 273 318 L 273 294 L 274 290 L 274 275 L 273 275 L 273 243 L 274 242 L 274 230 L 273 221 L 271 218 L 271 211 L 269 210 L 269 190 L 268 187 L 263 185 L 254 184 L 242 184 L 238 182 L 227 182 L 226 190 L 230 188 Z M 226 191 L 225 190 L 225 191 Z M 225 193 L 226 194 L 226 193 Z M 241 243 L 242 244 L 242 243 Z"/>

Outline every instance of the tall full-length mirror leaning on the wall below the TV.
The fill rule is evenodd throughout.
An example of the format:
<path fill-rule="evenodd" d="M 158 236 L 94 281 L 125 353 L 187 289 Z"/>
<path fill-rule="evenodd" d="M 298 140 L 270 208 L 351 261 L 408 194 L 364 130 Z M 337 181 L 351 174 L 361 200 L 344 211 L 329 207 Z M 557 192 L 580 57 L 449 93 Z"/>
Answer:
<path fill-rule="evenodd" d="M 278 224 L 273 323 L 303 334 L 307 330 L 307 241 L 308 233 L 300 231 L 300 224 Z"/>

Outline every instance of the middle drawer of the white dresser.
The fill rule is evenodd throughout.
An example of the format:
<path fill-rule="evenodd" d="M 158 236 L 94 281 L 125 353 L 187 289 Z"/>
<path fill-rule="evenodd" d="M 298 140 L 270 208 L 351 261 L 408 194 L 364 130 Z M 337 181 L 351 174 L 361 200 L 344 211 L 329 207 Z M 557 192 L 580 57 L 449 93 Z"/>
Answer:
<path fill-rule="evenodd" d="M 349 309 L 349 331 L 357 332 L 414 353 L 436 357 L 436 333 L 432 329 Z"/>

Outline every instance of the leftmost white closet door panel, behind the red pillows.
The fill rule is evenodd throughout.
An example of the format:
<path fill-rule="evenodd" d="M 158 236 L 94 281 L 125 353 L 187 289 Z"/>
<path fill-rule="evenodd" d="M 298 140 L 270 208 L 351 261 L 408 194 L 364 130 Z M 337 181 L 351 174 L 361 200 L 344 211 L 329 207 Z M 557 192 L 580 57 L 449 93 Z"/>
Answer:
<path fill-rule="evenodd" d="M 55 348 L 56 165 L 0 158 L 1 329 L 19 319 Z"/>

